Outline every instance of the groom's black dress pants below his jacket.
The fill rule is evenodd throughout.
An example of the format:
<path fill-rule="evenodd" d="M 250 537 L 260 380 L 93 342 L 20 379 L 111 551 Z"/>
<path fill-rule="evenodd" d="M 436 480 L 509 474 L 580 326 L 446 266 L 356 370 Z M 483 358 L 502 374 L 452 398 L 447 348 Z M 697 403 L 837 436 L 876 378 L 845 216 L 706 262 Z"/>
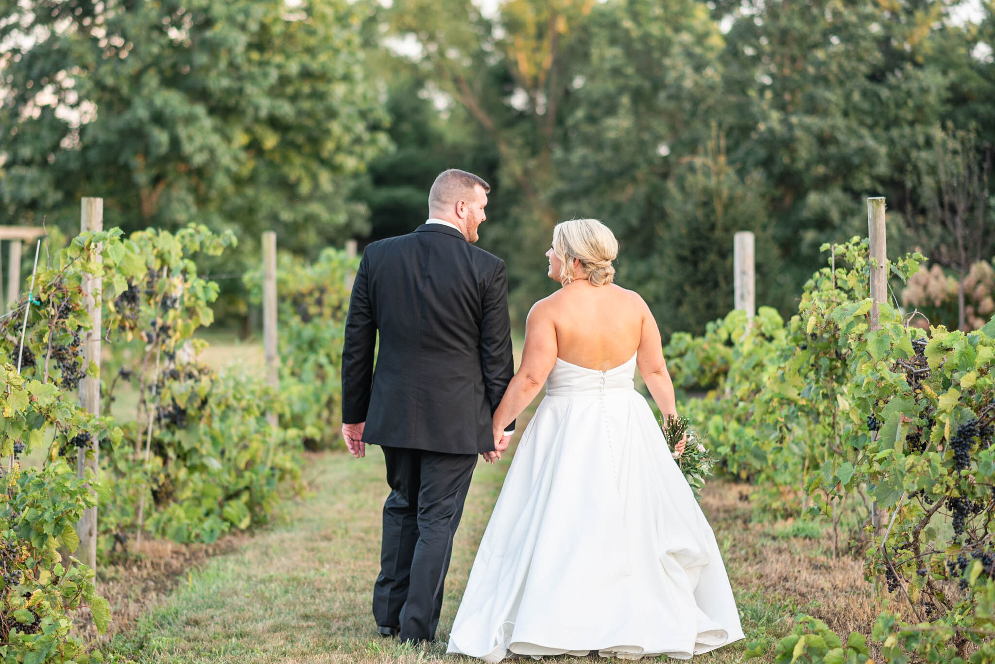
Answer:
<path fill-rule="evenodd" d="M 400 627 L 402 640 L 431 641 L 477 455 L 383 447 L 383 456 L 391 492 L 373 617 L 377 625 Z"/>

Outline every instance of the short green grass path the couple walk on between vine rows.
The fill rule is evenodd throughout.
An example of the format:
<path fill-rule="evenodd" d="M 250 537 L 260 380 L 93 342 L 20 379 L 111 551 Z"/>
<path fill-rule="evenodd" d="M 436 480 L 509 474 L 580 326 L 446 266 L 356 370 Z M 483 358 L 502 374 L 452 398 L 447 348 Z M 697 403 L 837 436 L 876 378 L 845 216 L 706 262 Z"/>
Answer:
<path fill-rule="evenodd" d="M 309 457 L 309 498 L 288 504 L 277 525 L 238 552 L 191 573 L 135 630 L 118 636 L 113 649 L 139 662 L 162 664 L 461 659 L 445 655 L 447 636 L 507 463 L 478 466 L 454 546 L 439 638 L 410 647 L 374 631 L 371 590 L 388 489 L 379 448 L 368 450 L 362 460 L 342 453 Z M 738 523 L 712 526 L 723 552 L 737 545 Z M 746 639 L 696 662 L 738 661 L 747 642 L 787 633 L 798 609 L 791 601 L 745 587 L 736 569 L 729 573 Z"/>

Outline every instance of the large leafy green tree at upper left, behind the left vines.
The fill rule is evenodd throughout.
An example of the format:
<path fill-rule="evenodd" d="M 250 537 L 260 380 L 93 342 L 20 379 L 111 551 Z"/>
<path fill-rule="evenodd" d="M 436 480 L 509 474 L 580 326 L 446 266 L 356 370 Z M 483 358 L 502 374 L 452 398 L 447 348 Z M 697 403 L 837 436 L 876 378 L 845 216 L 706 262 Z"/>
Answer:
<path fill-rule="evenodd" d="M 197 219 L 314 251 L 364 228 L 348 193 L 387 144 L 347 0 L 0 2 L 8 218 Z"/>

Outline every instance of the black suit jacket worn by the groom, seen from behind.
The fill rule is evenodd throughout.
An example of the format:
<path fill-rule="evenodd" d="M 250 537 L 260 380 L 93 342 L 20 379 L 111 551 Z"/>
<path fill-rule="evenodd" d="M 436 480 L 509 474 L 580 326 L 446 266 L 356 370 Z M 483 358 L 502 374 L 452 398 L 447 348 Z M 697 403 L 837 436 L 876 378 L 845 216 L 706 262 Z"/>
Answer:
<path fill-rule="evenodd" d="M 364 442 L 494 450 L 513 372 L 503 261 L 443 224 L 366 247 L 342 348 L 342 421 L 365 421 Z"/>

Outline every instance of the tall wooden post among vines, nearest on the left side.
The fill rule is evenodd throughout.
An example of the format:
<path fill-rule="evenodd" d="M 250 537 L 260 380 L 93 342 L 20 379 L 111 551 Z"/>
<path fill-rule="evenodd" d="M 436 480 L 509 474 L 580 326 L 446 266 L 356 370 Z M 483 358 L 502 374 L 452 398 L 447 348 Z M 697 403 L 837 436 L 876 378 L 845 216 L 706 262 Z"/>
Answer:
<path fill-rule="evenodd" d="M 103 230 L 103 199 L 84 198 L 81 202 L 81 230 L 86 233 Z M 97 249 L 95 260 L 102 263 L 101 247 Z M 93 378 L 84 377 L 80 381 L 80 405 L 94 415 L 100 415 L 100 324 L 102 278 L 100 275 L 85 275 L 83 278 L 83 294 L 86 300 L 87 312 L 94 322 L 94 327 L 87 331 L 83 340 L 83 364 L 97 364 L 97 375 Z M 100 443 L 92 441 L 93 458 L 87 460 L 86 450 L 80 450 L 77 455 L 77 473 L 82 478 L 90 468 L 94 479 L 98 478 Z M 88 508 L 77 526 L 80 536 L 79 558 L 92 568 L 97 568 L 97 507 Z"/>

